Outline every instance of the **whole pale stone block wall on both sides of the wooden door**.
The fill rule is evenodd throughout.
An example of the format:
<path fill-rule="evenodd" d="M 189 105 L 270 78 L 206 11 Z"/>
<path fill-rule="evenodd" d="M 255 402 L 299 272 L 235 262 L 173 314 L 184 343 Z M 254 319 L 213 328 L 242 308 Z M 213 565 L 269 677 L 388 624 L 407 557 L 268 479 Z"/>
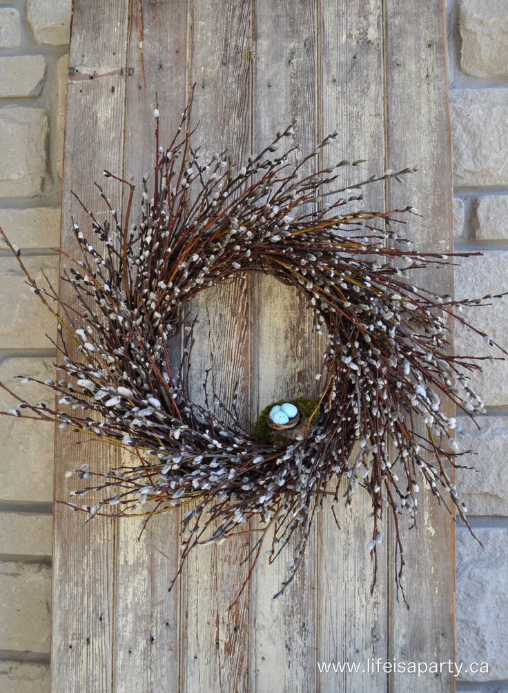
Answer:
<path fill-rule="evenodd" d="M 35 274 L 56 276 L 60 227 L 63 104 L 70 0 L 0 0 L 0 225 Z M 508 4 L 450 0 L 450 89 L 457 249 L 484 258 L 457 268 L 457 295 L 508 290 Z M 474 270 L 472 270 L 474 262 Z M 0 369 L 51 374 L 45 332 L 54 326 L 22 288 L 0 248 Z M 508 304 L 475 315 L 508 344 Z M 483 343 L 482 343 L 483 344 Z M 457 328 L 457 348 L 479 351 Z M 457 661 L 489 663 L 462 674 L 458 692 L 508 692 L 508 362 L 475 376 L 489 414 L 478 432 L 459 418 L 457 434 L 483 475 L 459 483 L 482 541 L 457 530 Z M 41 392 L 44 397 L 45 392 Z M 36 395 L 35 395 L 36 396 Z M 8 405 L 0 394 L 0 407 Z M 0 419 L 0 690 L 49 690 L 53 430 Z"/>

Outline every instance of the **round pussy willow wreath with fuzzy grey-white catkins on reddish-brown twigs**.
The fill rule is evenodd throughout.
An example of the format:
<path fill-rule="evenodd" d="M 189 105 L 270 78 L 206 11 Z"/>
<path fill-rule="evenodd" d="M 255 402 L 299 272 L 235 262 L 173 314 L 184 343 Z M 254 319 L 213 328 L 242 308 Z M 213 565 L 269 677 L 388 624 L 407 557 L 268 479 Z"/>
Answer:
<path fill-rule="evenodd" d="M 453 356 L 450 324 L 453 318 L 482 334 L 457 307 L 488 304 L 492 297 L 454 301 L 405 279 L 450 263 L 442 254 L 412 249 L 396 234 L 403 217 L 417 213 L 412 207 L 342 210 L 362 200 L 362 186 L 401 181 L 412 169 L 341 186 L 342 169 L 360 162 L 319 169 L 322 150 L 337 133 L 290 165 L 295 148 L 277 152 L 292 139 L 293 126 L 242 166 L 226 152 L 202 161 L 189 119 L 186 109 L 175 138 L 162 148 L 155 111 L 153 185 L 148 174 L 143 177 L 139 220 L 132 211 L 134 184 L 105 171 L 127 186 L 125 217 L 98 186 L 109 219 L 101 213 L 99 221 L 85 208 L 91 232 L 73 224 L 80 254 L 60 252 L 69 267 L 62 280 L 71 285 L 78 310 L 51 285 L 37 286 L 6 239 L 29 286 L 58 320 L 62 358 L 60 378 L 44 383 L 58 394 L 58 407 L 30 403 L 9 389 L 18 403 L 2 413 L 56 419 L 60 428 L 134 450 L 134 466 L 98 473 L 84 461 L 69 470 L 88 484 L 71 491 L 76 500 L 100 493 L 94 505 L 67 505 L 90 517 L 143 514 L 145 524 L 185 505 L 180 570 L 193 547 L 224 541 L 258 518 L 253 563 L 268 534 L 270 561 L 288 543 L 292 548 L 288 577 L 276 596 L 295 577 L 317 509 L 333 511 L 341 500 L 349 507 L 361 489 L 371 499 L 374 577 L 380 524 L 389 509 L 401 587 L 398 518 L 406 514 L 411 525 L 416 522 L 422 481 L 467 524 L 452 474 L 462 453 L 453 440 L 455 419 L 445 408 L 451 401 L 468 416 L 484 408 L 468 379 L 478 362 Z M 317 170 L 304 175 L 311 167 Z M 203 405 L 189 394 L 189 301 L 253 271 L 304 292 L 315 330 L 327 339 L 319 402 L 306 428 L 286 443 L 256 441 L 240 426 L 234 402 L 211 410 L 208 398 Z M 170 351 L 182 334 L 183 358 L 173 368 Z"/>

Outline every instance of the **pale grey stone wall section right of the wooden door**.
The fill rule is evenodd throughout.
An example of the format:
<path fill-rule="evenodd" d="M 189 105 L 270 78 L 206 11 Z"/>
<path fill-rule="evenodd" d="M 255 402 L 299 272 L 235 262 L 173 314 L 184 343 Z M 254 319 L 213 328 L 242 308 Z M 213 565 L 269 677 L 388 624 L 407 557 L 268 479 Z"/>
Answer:
<path fill-rule="evenodd" d="M 448 2 L 450 98 L 453 123 L 455 243 L 457 251 L 481 250 L 461 261 L 456 295 L 508 290 L 508 3 Z M 507 299 L 478 313 L 476 324 L 508 344 Z M 464 313 L 465 314 L 465 313 Z M 484 346 L 457 327 L 457 350 Z M 487 353 L 487 351 L 485 352 Z M 457 529 L 457 661 L 489 663 L 489 674 L 462 674 L 457 692 L 508 692 L 508 361 L 487 365 L 473 378 L 488 415 L 478 431 L 457 419 L 466 464 L 459 487 L 471 525 Z"/>

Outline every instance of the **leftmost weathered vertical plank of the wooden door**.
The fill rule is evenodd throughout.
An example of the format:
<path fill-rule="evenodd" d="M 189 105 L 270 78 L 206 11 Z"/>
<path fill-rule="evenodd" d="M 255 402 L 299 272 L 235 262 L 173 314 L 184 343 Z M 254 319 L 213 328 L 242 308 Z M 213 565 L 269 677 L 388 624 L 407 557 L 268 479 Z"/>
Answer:
<path fill-rule="evenodd" d="M 84 202 L 100 207 L 91 185 L 103 168 L 121 170 L 125 100 L 127 0 L 76 3 L 73 16 L 67 133 L 62 201 L 62 249 L 77 254 L 70 214 L 89 232 L 89 218 L 78 209 L 70 188 Z M 111 187 L 112 196 L 121 186 Z M 64 263 L 61 269 L 63 270 Z M 73 292 L 64 283 L 60 296 L 74 308 Z M 76 441 L 82 441 L 79 446 Z M 56 431 L 55 498 L 68 500 L 75 480 L 65 480 L 69 467 L 87 462 L 96 471 L 114 464 L 116 452 L 69 430 Z M 87 496 L 86 502 L 94 500 Z M 53 640 L 51 690 L 82 693 L 112 690 L 112 633 L 115 555 L 114 527 L 55 505 L 53 543 Z"/>

